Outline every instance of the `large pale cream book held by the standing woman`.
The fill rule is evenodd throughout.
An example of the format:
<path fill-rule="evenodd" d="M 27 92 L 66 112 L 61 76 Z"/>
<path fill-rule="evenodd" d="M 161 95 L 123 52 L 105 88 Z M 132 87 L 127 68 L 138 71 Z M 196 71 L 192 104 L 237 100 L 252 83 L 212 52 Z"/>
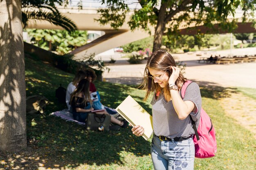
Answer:
<path fill-rule="evenodd" d="M 152 116 L 142 108 L 130 95 L 116 108 L 132 126 L 140 125 L 144 128 L 142 137 L 148 140 L 153 134 Z"/>

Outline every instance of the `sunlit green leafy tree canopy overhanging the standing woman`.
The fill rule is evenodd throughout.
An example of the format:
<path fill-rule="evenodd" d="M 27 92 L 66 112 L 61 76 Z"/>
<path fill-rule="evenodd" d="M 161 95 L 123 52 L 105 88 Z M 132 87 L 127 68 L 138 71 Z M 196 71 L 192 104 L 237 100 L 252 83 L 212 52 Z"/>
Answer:
<path fill-rule="evenodd" d="M 114 29 L 124 24 L 129 9 L 129 1 L 102 0 L 108 9 L 99 9 L 100 24 L 110 24 Z M 243 10 L 243 21 L 248 21 L 248 15 L 254 17 L 256 0 L 138 0 L 141 8 L 134 9 L 128 21 L 131 30 L 140 28 L 148 31 L 155 28 L 154 48 L 159 48 L 162 35 L 168 37 L 179 34 L 180 27 L 204 25 L 214 30 L 214 24 L 219 23 L 222 29 L 232 31 L 236 28 L 236 9 Z M 215 30 L 216 33 L 218 30 Z M 200 30 L 198 30 L 200 32 Z"/>

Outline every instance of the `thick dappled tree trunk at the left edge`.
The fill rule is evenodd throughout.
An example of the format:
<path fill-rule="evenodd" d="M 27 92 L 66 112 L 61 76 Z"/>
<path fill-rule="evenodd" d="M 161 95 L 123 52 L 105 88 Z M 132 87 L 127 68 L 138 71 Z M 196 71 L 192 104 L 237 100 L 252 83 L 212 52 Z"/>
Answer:
<path fill-rule="evenodd" d="M 0 1 L 0 150 L 27 146 L 21 0 Z"/>

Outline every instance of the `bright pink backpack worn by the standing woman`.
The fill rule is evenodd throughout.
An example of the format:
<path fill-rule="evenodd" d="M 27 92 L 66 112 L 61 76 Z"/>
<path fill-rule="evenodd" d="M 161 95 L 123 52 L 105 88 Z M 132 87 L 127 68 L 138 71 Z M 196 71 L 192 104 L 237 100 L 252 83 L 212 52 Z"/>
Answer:
<path fill-rule="evenodd" d="M 187 80 L 181 89 L 182 98 L 185 96 L 186 88 L 191 81 Z M 195 121 L 193 121 L 191 115 L 190 119 L 195 130 L 195 135 L 193 136 L 193 141 L 195 144 L 195 157 L 196 158 L 209 158 L 214 157 L 217 152 L 216 143 L 216 132 L 211 123 L 211 118 L 207 115 L 203 108 L 201 108 L 201 117 L 198 129 L 196 129 Z"/>

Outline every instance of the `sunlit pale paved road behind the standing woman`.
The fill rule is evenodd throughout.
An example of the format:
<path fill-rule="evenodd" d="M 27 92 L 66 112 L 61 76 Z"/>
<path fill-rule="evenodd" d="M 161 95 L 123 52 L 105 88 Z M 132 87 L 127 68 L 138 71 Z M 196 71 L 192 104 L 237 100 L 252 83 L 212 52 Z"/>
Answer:
<path fill-rule="evenodd" d="M 196 52 L 192 54 L 173 54 L 175 60 L 186 63 L 185 77 L 203 85 L 217 85 L 223 87 L 248 87 L 256 88 L 256 62 L 242 64 L 203 64 L 198 63 L 201 53 L 202 56 L 209 57 L 213 55 L 228 55 L 230 50 L 226 51 L 207 51 Z M 233 49 L 232 53 L 236 55 L 256 54 L 256 48 Z M 101 56 L 104 60 L 110 57 Z M 105 57 L 105 58 L 104 58 Z M 121 58 L 120 54 L 112 56 L 117 60 L 111 64 L 109 73 L 103 73 L 103 80 L 106 82 L 121 84 L 139 84 L 144 75 L 145 62 L 143 64 L 129 64 L 126 58 Z"/>

